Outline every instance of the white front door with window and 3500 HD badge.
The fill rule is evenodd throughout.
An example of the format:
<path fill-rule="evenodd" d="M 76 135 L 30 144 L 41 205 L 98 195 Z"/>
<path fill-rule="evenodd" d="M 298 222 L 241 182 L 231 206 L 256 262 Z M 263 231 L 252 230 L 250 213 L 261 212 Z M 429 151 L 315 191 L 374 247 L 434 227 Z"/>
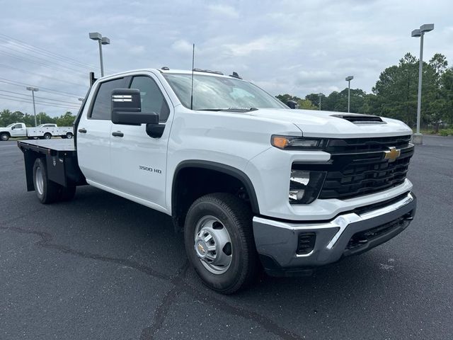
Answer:
<path fill-rule="evenodd" d="M 170 106 L 165 92 L 153 76 L 132 78 L 130 89 L 139 89 L 142 112 L 159 113 L 160 124 L 168 123 Z M 164 95 L 165 94 L 165 95 Z M 167 124 L 169 125 L 169 124 Z M 160 138 L 149 137 L 146 124 L 113 124 L 110 136 L 111 164 L 115 188 L 138 198 L 152 208 L 165 211 L 166 154 L 170 126 Z"/>

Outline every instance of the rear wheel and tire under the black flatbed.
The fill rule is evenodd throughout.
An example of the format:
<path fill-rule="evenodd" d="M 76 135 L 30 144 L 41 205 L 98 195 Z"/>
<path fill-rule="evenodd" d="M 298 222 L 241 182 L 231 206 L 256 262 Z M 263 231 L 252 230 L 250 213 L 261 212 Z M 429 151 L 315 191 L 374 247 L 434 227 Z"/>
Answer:
<path fill-rule="evenodd" d="M 33 185 L 42 204 L 54 203 L 59 197 L 59 185 L 47 177 L 45 160 L 37 158 L 33 164 Z"/>

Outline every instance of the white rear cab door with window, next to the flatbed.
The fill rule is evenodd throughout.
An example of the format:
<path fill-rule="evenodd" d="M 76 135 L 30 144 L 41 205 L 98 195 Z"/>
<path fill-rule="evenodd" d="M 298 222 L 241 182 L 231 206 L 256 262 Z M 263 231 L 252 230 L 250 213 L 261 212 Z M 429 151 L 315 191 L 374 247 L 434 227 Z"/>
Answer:
<path fill-rule="evenodd" d="M 77 155 L 79 166 L 88 183 L 110 188 L 110 102 L 113 89 L 124 89 L 125 79 L 99 83 L 91 106 L 84 108 L 77 127 Z"/>

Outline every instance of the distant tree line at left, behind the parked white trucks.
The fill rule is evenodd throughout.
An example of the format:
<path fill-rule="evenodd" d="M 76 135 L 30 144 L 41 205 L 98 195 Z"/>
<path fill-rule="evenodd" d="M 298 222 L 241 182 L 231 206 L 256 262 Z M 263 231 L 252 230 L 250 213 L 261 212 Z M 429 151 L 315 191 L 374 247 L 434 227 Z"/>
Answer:
<path fill-rule="evenodd" d="M 72 115 L 71 111 L 63 113 L 59 117 L 50 117 L 45 112 L 40 112 L 36 115 L 36 123 L 46 124 L 55 123 L 58 126 L 71 126 L 76 119 L 75 115 Z M 22 113 L 21 111 L 9 111 L 7 109 L 0 111 L 0 126 L 6 126 L 12 123 L 25 123 L 28 127 L 35 126 L 35 115 L 28 113 Z"/>

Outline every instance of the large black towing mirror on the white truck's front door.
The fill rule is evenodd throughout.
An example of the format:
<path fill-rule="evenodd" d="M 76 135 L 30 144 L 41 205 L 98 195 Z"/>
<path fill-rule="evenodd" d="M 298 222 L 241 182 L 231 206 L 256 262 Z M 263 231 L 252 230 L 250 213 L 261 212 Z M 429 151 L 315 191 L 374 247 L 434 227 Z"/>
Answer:
<path fill-rule="evenodd" d="M 159 124 L 159 114 L 142 112 L 140 90 L 115 89 L 112 91 L 111 120 L 122 125 Z"/>

